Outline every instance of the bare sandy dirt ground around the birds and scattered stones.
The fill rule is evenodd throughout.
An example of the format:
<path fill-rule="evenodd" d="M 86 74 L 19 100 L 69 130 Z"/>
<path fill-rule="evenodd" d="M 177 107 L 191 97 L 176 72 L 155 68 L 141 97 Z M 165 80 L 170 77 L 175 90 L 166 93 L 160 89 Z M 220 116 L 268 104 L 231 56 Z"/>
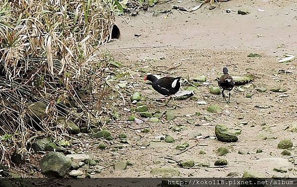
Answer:
<path fill-rule="evenodd" d="M 122 78 L 128 81 L 125 88 L 127 92 L 141 92 L 146 98 L 146 105 L 150 112 L 166 110 L 158 107 L 153 101 L 161 98 L 157 92 L 151 89 L 143 80 L 146 69 L 150 73 L 161 76 L 189 76 L 205 75 L 207 83 L 199 86 L 195 91 L 198 101 L 205 101 L 206 105 L 198 105 L 198 101 L 183 100 L 177 104 L 183 108 L 174 110 L 175 119 L 167 121 L 163 116 L 159 122 L 137 124 L 127 121 L 131 115 L 130 95 L 124 93 L 126 105 L 120 107 L 120 120 L 105 125 L 114 140 L 106 141 L 105 150 L 97 149 L 97 145 L 88 143 L 82 149 L 93 158 L 99 160 L 102 166 L 129 160 L 133 166 L 128 166 L 123 171 L 106 167 L 101 173 L 93 177 L 161 177 L 150 173 L 155 167 L 172 167 L 181 172 L 181 177 L 226 177 L 230 172 L 238 172 L 242 176 L 246 170 L 255 171 L 265 177 L 286 176 L 296 177 L 297 167 L 294 160 L 286 158 L 277 149 L 281 140 L 290 139 L 297 145 L 296 134 L 284 130 L 288 125 L 295 124 L 297 117 L 296 94 L 296 62 L 277 64 L 285 53 L 297 54 L 297 2 L 294 0 L 230 0 L 220 3 L 220 7 L 209 10 L 209 4 L 193 12 L 172 10 L 172 14 L 160 13 L 153 16 L 153 11 L 171 9 L 171 5 L 179 5 L 192 8 L 196 1 L 178 3 L 176 0 L 149 8 L 148 12 L 140 12 L 136 17 L 117 17 L 117 25 L 121 30 L 119 40 L 107 43 L 102 50 L 108 51 L 116 60 L 122 63 L 123 72 L 131 75 Z M 226 13 L 230 8 L 231 13 Z M 247 8 L 248 15 L 239 15 L 238 9 Z M 265 11 L 258 11 L 258 9 Z M 129 22 L 127 24 L 127 22 Z M 140 34 L 135 37 L 134 34 Z M 278 47 L 281 46 L 281 47 Z M 258 53 L 262 57 L 249 58 L 249 53 Z M 221 95 L 209 93 L 209 86 L 217 86 L 215 78 L 221 73 L 223 67 L 228 67 L 230 75 L 241 75 L 247 72 L 255 76 L 253 85 L 265 87 L 267 91 L 262 93 L 256 89 L 244 92 L 234 89 L 231 100 L 236 102 L 226 104 L 220 102 Z M 166 71 L 167 70 L 167 71 Z M 279 70 L 287 70 L 292 74 L 278 74 Z M 165 72 L 163 74 L 160 72 Z M 288 89 L 284 93 L 271 92 L 270 88 L 280 86 Z M 121 89 L 122 92 L 125 89 Z M 182 87 L 181 89 L 185 89 Z M 246 98 L 246 94 L 252 94 Z M 115 106 L 121 103 L 115 101 Z M 209 113 L 206 111 L 211 104 L 222 108 L 222 113 Z M 263 109 L 255 106 L 263 106 Z M 200 112 L 200 116 L 187 115 Z M 187 115 L 187 116 L 186 116 Z M 212 120 L 205 121 L 204 116 Z M 142 117 L 140 117 L 142 118 Z M 187 120 L 194 119 L 190 124 Z M 142 118 L 143 120 L 146 120 Z M 244 125 L 241 125 L 241 124 Z M 236 143 L 223 143 L 215 137 L 214 128 L 217 124 L 225 124 L 231 129 L 241 129 Z M 171 127 L 180 125 L 183 130 L 174 132 Z M 148 127 L 150 132 L 141 132 Z M 111 151 L 115 145 L 120 144 L 118 134 L 127 134 L 129 144 L 123 144 L 124 148 Z M 193 139 L 193 135 L 201 133 L 209 138 Z M 156 143 L 141 149 L 144 142 L 151 142 L 156 136 L 170 135 L 175 139 L 174 143 Z M 97 141 L 83 135 L 85 141 Z M 266 137 L 266 138 L 264 138 Z M 184 153 L 176 154 L 177 145 L 188 142 L 190 147 Z M 229 153 L 218 156 L 216 150 L 219 147 L 227 147 Z M 199 154 L 204 150 L 206 154 Z M 241 150 L 245 154 L 239 154 Z M 256 150 L 262 150 L 256 153 Z M 291 150 L 296 155 L 296 148 Z M 167 159 L 171 156 L 170 159 Z M 215 168 L 214 161 L 225 158 L 228 167 Z M 174 161 L 194 159 L 196 163 L 209 163 L 210 167 L 198 167 L 195 169 L 181 168 Z M 169 161 L 169 162 L 168 162 Z M 171 162 L 171 163 L 170 163 Z M 293 163 L 292 163 L 293 162 Z M 282 168 L 286 173 L 273 171 L 274 168 Z M 166 174 L 165 176 L 168 177 Z M 172 176 L 172 175 L 169 175 Z M 174 176 L 174 175 L 173 175 Z"/>

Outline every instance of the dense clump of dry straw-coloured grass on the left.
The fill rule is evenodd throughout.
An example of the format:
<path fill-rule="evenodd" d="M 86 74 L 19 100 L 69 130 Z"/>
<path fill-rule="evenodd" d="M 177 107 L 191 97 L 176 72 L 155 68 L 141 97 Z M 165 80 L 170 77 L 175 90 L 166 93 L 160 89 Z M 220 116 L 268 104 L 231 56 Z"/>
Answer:
<path fill-rule="evenodd" d="M 77 90 L 85 86 L 96 94 L 106 84 L 107 64 L 95 51 L 110 39 L 114 7 L 99 0 L 0 0 L 0 4 L 0 152 L 1 161 L 9 162 L 11 151 L 30 152 L 34 138 L 68 136 L 56 123 L 58 117 L 88 125 L 98 117 Z M 70 99 L 83 112 L 71 109 Z M 47 106 L 42 119 L 30 112 L 35 102 Z"/>

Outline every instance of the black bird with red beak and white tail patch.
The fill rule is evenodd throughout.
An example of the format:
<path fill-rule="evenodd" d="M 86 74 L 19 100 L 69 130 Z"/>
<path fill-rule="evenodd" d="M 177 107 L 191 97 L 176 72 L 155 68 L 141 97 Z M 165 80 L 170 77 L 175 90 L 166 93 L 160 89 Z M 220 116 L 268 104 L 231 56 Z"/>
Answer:
<path fill-rule="evenodd" d="M 164 104 L 167 105 L 170 99 L 172 98 L 172 101 L 175 105 L 174 108 L 177 107 L 172 95 L 176 94 L 178 90 L 181 87 L 181 77 L 169 77 L 165 76 L 163 78 L 159 78 L 156 75 L 146 75 L 145 80 L 151 81 L 152 88 L 156 90 L 158 93 L 169 96 L 169 100 Z M 164 106 L 161 105 L 161 106 Z"/>

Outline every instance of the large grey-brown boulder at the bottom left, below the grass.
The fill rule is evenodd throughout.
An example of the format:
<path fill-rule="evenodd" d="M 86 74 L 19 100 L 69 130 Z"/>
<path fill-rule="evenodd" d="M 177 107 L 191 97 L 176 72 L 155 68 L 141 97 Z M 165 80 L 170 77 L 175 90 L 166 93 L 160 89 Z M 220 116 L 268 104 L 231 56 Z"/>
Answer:
<path fill-rule="evenodd" d="M 64 177 L 71 167 L 71 159 L 60 152 L 49 152 L 39 165 L 44 175 Z"/>

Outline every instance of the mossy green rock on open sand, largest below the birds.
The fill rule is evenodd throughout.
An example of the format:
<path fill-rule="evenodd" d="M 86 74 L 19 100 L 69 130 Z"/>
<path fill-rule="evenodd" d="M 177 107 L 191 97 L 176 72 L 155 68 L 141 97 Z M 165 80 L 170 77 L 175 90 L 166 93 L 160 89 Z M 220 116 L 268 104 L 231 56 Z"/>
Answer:
<path fill-rule="evenodd" d="M 231 132 L 225 125 L 218 124 L 214 129 L 215 136 L 221 142 L 236 142 L 238 137 L 234 132 Z"/>

